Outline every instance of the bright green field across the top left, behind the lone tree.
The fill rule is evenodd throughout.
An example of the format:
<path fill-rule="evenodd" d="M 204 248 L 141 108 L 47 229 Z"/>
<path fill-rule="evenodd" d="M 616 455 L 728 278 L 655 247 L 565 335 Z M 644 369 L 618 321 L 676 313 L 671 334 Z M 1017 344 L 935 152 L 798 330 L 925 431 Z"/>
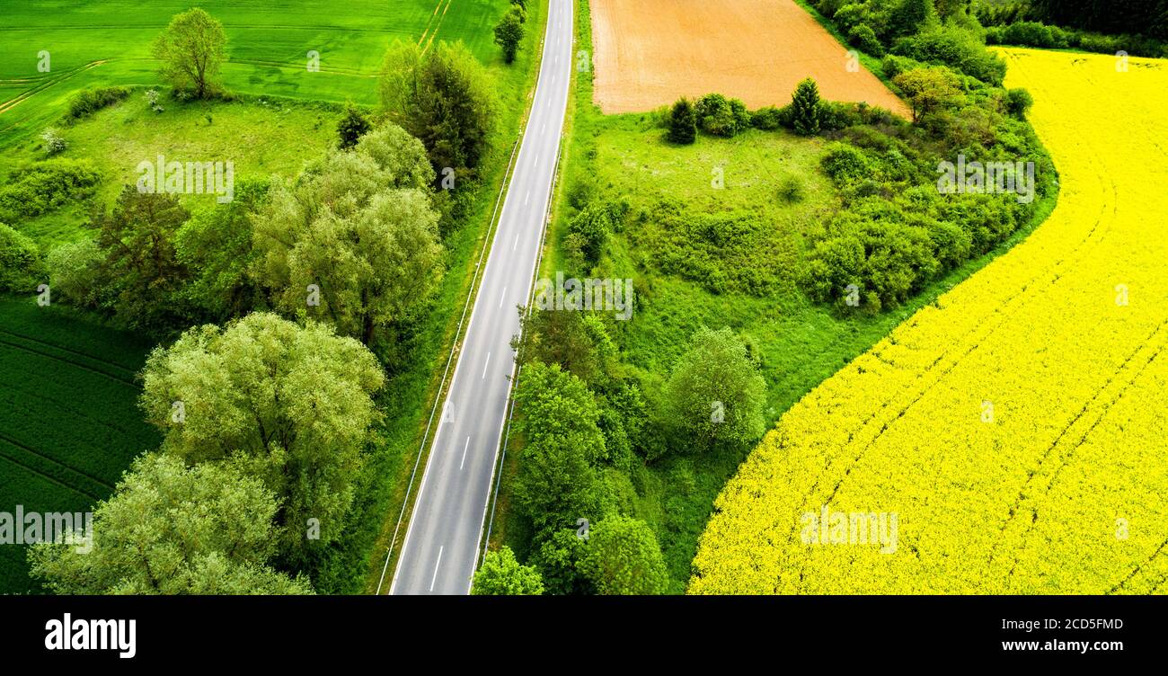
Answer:
<path fill-rule="evenodd" d="M 492 26 L 507 0 L 355 0 L 333 6 L 208 0 L 223 22 L 223 80 L 239 94 L 376 103 L 374 78 L 395 40 L 461 40 L 486 64 L 501 62 Z M 109 84 L 155 85 L 150 46 L 189 2 L 0 1 L 0 147 L 55 123 L 72 92 Z M 320 55 L 310 73 L 307 54 Z M 48 73 L 37 69 L 49 53 Z"/>

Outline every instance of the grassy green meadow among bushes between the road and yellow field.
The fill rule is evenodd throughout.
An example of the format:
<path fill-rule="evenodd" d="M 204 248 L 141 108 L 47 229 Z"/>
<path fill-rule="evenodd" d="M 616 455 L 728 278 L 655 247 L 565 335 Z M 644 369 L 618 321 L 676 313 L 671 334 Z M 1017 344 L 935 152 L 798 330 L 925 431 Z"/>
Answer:
<path fill-rule="evenodd" d="M 578 44 L 591 42 L 586 0 L 577 2 Z M 575 209 L 569 195 L 580 184 L 592 185 L 595 198 L 627 199 L 633 225 L 609 240 L 598 277 L 631 277 L 639 296 L 632 319 L 621 322 L 617 339 L 623 361 L 640 372 L 645 392 L 660 392 L 674 361 L 702 325 L 730 326 L 749 336 L 759 349 L 767 385 L 766 415 L 777 421 L 819 382 L 888 334 L 916 310 L 985 265 L 993 256 L 1021 241 L 1054 208 L 1051 198 L 1028 228 L 987 256 L 967 262 L 930 284 L 910 303 L 876 316 L 841 317 L 811 303 L 797 287 L 802 265 L 804 229 L 839 206 L 837 191 L 820 171 L 825 142 L 787 132 L 748 131 L 732 139 L 700 136 L 690 146 L 666 143 L 653 115 L 605 116 L 592 104 L 591 78 L 577 74 L 564 175 L 556 198 L 542 275 L 563 269 L 562 241 Z M 721 168 L 722 188 L 711 180 Z M 778 188 L 795 177 L 805 198 L 797 204 L 780 199 Z M 665 275 L 653 264 L 655 237 L 674 236 L 668 228 L 635 225 L 642 209 L 661 200 L 684 205 L 688 213 L 717 214 L 749 211 L 772 228 L 770 250 L 778 283 L 765 296 L 711 294 L 702 284 Z M 652 219 L 649 219 L 652 221 Z M 723 261 L 723 265 L 725 262 Z M 519 444 L 508 448 L 503 488 L 499 498 L 494 546 L 510 545 L 524 553 L 530 533 L 522 519 L 506 510 L 508 483 L 517 470 Z M 709 518 L 714 498 L 745 458 L 749 448 L 712 454 L 673 454 L 640 468 L 632 477 L 638 490 L 637 518 L 656 532 L 673 579 L 670 593 L 681 593 L 689 579 L 697 538 Z"/>

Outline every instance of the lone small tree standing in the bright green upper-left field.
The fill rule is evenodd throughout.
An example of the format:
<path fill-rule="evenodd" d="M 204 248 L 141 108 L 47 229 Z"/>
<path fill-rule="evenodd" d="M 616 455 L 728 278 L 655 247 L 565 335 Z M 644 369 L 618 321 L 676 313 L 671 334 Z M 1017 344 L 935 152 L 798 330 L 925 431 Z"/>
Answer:
<path fill-rule="evenodd" d="M 162 62 L 162 76 L 175 89 L 194 89 L 196 97 L 204 98 L 220 88 L 225 44 L 223 25 L 195 7 L 171 19 L 154 41 L 153 53 Z"/>

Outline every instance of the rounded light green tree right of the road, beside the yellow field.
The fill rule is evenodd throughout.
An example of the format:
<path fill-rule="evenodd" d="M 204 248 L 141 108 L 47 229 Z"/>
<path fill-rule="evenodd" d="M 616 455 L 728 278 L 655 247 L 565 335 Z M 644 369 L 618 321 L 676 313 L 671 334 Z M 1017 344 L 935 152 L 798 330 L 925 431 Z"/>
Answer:
<path fill-rule="evenodd" d="M 665 386 L 666 420 L 695 444 L 746 443 L 763 434 L 766 381 L 730 329 L 700 329 Z"/>

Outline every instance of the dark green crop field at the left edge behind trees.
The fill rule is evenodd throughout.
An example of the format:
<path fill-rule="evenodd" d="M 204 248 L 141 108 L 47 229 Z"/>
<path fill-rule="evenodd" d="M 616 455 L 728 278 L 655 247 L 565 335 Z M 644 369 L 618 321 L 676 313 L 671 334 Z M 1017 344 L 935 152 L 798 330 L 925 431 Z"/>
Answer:
<path fill-rule="evenodd" d="M 0 297 L 0 511 L 88 511 L 160 441 L 138 409 L 150 345 L 33 298 Z M 35 591 L 0 546 L 0 593 Z"/>

